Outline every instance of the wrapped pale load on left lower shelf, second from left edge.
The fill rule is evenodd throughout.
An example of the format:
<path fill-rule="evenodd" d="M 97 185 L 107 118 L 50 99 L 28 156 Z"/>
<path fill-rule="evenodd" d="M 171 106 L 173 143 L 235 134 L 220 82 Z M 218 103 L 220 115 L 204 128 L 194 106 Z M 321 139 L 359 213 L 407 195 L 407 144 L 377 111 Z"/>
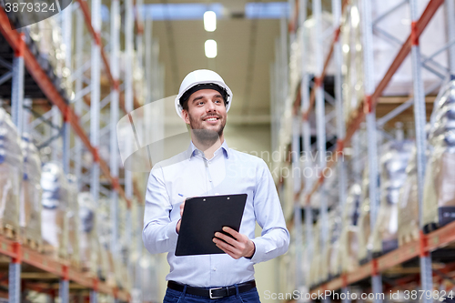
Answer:
<path fill-rule="evenodd" d="M 41 160 L 38 149 L 24 134 L 21 147 L 24 155 L 24 177 L 20 196 L 20 226 L 23 242 L 37 250 L 43 247 L 41 237 Z"/>

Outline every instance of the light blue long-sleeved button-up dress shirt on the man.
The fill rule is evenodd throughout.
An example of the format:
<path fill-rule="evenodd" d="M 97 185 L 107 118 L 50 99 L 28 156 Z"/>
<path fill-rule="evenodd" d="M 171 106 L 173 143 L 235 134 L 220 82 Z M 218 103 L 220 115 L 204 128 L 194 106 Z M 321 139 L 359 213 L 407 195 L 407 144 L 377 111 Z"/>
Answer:
<path fill-rule="evenodd" d="M 248 198 L 239 232 L 255 243 L 253 258 L 234 259 L 227 254 L 176 257 L 176 226 L 184 197 L 245 193 Z M 256 221 L 262 233 L 255 238 Z M 224 287 L 251 280 L 254 264 L 284 254 L 289 245 L 288 229 L 267 164 L 259 157 L 230 149 L 226 140 L 211 159 L 191 142 L 185 152 L 152 168 L 142 238 L 150 253 L 167 252 L 167 280 L 194 287 Z"/>

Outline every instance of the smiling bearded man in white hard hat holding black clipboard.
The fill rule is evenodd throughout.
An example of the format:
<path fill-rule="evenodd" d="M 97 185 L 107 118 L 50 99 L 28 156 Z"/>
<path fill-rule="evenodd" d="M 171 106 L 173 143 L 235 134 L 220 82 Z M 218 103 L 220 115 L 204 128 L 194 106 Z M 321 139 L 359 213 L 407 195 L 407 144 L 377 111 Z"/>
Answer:
<path fill-rule="evenodd" d="M 259 302 L 253 265 L 288 250 L 288 229 L 266 163 L 227 147 L 223 130 L 231 103 L 232 92 L 217 73 L 189 73 L 176 110 L 189 126 L 190 146 L 150 172 L 143 240 L 150 253 L 168 253 L 164 302 Z M 234 238 L 222 233 L 213 238 L 226 254 L 176 257 L 184 197 L 245 193 L 239 232 L 224 227 Z M 256 221 L 262 234 L 254 238 Z"/>

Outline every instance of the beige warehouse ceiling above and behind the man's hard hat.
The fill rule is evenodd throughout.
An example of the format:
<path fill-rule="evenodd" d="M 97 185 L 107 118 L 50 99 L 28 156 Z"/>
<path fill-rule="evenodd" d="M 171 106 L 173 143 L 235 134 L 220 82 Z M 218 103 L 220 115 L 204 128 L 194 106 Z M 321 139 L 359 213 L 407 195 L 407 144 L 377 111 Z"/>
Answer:
<path fill-rule="evenodd" d="M 195 1 L 145 1 L 145 4 L 164 3 Z M 199 68 L 213 69 L 233 91 L 234 99 L 229 116 L 236 116 L 236 121 L 249 117 L 268 123 L 269 70 L 275 57 L 279 19 L 242 17 L 247 3 L 244 0 L 217 3 L 221 3 L 227 11 L 224 17 L 217 18 L 217 30 L 213 33 L 204 30 L 202 19 L 154 21 L 153 35 L 159 42 L 160 61 L 165 66 L 165 95 L 176 95 L 180 82 L 187 73 Z M 217 41 L 216 58 L 208 59 L 205 56 L 204 43 L 207 39 Z"/>

